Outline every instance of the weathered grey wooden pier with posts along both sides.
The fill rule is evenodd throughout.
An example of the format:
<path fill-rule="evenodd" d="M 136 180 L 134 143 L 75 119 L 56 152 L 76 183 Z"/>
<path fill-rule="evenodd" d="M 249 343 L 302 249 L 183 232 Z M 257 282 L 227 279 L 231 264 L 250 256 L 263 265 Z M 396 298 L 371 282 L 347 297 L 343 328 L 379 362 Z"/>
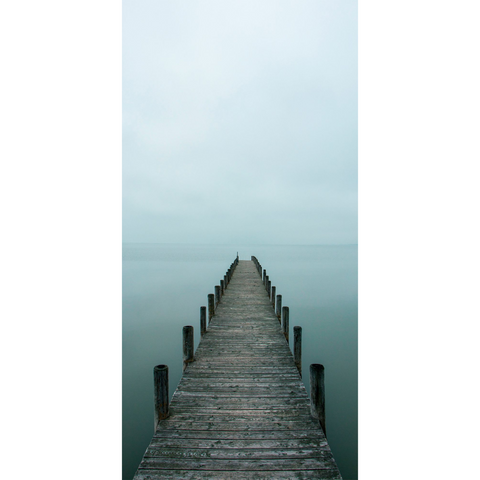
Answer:
<path fill-rule="evenodd" d="M 220 283 L 209 295 L 207 329 L 200 309 L 205 333 L 194 357 L 193 327 L 184 327 L 185 370 L 170 405 L 168 367 L 155 367 L 156 428 L 134 480 L 341 479 L 265 270 L 262 278 L 255 257 L 237 256 Z M 288 332 L 288 308 L 283 312 Z M 321 371 L 320 381 L 311 377 L 317 404 Z"/>

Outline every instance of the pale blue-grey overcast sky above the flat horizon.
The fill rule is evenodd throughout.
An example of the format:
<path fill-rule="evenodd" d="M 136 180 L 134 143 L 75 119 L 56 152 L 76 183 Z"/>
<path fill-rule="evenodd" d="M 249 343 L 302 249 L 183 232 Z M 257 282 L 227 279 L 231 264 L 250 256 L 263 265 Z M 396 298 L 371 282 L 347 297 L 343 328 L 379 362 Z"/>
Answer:
<path fill-rule="evenodd" d="M 123 240 L 357 242 L 357 2 L 123 2 Z"/>

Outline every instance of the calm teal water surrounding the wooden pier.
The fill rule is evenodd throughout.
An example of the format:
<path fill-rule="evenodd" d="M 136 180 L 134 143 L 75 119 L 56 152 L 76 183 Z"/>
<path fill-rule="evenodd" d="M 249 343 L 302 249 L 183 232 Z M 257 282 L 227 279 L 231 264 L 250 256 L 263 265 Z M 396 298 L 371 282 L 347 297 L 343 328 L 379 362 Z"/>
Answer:
<path fill-rule="evenodd" d="M 303 329 L 303 381 L 325 366 L 328 441 L 344 480 L 357 475 L 357 246 L 123 246 L 123 479 L 153 435 L 153 367 L 169 366 L 170 396 L 182 373 L 182 327 L 199 342 L 207 305 L 234 260 L 255 255 Z"/>

